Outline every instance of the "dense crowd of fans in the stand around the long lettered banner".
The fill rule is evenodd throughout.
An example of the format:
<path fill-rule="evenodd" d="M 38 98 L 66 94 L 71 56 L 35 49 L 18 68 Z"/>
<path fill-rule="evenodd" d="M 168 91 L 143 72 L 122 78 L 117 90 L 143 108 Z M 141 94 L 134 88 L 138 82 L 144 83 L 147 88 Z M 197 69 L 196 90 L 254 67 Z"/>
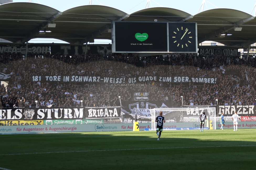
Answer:
<path fill-rule="evenodd" d="M 38 56 L 3 53 L 0 72 L 10 74 L 9 83 L 0 87 L 2 108 L 8 107 L 78 107 L 119 106 L 134 100 L 136 92 L 148 92 L 150 101 L 167 101 L 172 107 L 183 105 L 255 105 L 256 59 L 249 56 L 209 56 L 169 54 L 138 57 L 129 54 L 81 54 L 64 56 L 60 53 Z M 216 77 L 216 84 L 145 82 L 143 87 L 113 87 L 109 84 L 31 82 L 33 75 L 79 75 L 118 77 L 130 76 L 189 76 Z M 234 76 L 238 75 L 236 79 Z M 36 104 L 38 101 L 38 105 Z M 123 103 L 124 102 L 124 103 Z"/>

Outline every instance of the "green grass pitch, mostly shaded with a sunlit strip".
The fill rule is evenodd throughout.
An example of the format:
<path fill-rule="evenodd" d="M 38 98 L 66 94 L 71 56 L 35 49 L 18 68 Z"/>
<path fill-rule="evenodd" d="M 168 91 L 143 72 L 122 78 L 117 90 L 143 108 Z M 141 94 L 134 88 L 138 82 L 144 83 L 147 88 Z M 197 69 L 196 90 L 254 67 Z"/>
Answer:
<path fill-rule="evenodd" d="M 0 169 L 256 169 L 256 129 L 0 135 Z"/>

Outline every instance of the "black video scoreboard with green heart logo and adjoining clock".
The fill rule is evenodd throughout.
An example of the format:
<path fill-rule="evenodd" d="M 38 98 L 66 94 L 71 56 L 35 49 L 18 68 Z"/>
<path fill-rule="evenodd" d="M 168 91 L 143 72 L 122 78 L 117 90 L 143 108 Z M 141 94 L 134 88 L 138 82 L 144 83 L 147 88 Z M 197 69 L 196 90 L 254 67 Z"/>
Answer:
<path fill-rule="evenodd" d="M 195 22 L 113 21 L 113 53 L 197 53 Z"/>

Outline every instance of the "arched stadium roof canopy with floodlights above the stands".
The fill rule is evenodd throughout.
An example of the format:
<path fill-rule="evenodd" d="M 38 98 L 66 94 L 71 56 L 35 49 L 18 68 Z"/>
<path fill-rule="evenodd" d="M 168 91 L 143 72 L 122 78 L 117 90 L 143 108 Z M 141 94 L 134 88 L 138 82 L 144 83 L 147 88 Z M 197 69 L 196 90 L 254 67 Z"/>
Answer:
<path fill-rule="evenodd" d="M 29 2 L 0 5 L 0 38 L 25 43 L 32 38 L 56 38 L 71 44 L 111 39 L 111 21 L 178 21 L 198 23 L 198 43 L 216 41 L 227 46 L 248 47 L 256 42 L 254 16 L 234 9 L 212 9 L 190 15 L 172 8 L 147 8 L 132 14 L 101 5 L 84 5 L 60 12 Z M 52 27 L 55 26 L 56 27 Z M 241 31 L 235 31 L 242 28 Z M 50 30 L 43 32 L 40 30 Z M 232 33 L 232 36 L 220 36 Z"/>

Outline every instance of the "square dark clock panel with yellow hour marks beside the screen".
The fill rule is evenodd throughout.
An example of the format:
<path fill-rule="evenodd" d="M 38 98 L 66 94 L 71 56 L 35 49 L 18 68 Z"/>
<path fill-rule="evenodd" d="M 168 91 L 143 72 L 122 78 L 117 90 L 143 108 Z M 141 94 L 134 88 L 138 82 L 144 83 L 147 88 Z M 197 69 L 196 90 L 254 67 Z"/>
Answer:
<path fill-rule="evenodd" d="M 169 52 L 196 52 L 197 33 L 194 22 L 169 22 Z"/>

